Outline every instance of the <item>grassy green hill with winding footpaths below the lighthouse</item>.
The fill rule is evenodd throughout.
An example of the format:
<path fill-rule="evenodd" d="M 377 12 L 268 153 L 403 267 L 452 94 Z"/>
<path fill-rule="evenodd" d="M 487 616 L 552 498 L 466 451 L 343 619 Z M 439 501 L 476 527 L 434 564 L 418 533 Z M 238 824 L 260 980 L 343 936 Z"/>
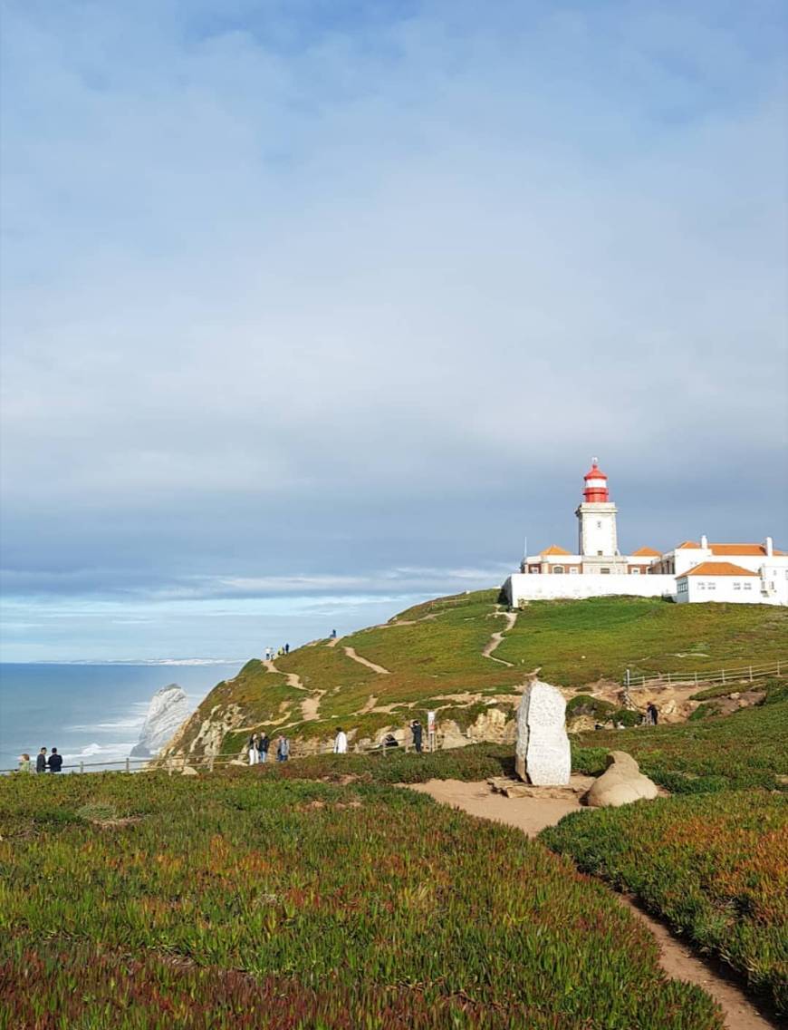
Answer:
<path fill-rule="evenodd" d="M 372 743 L 415 716 L 424 721 L 427 710 L 438 712 L 446 745 L 503 741 L 536 668 L 612 713 L 628 668 L 633 676 L 703 674 L 762 663 L 784 655 L 786 629 L 788 611 L 765 606 L 598 597 L 508 612 L 495 590 L 440 597 L 273 662 L 253 658 L 208 694 L 165 753 L 240 753 L 258 729 L 320 750 L 337 725 L 355 743 Z M 678 691 L 684 716 L 692 692 Z"/>

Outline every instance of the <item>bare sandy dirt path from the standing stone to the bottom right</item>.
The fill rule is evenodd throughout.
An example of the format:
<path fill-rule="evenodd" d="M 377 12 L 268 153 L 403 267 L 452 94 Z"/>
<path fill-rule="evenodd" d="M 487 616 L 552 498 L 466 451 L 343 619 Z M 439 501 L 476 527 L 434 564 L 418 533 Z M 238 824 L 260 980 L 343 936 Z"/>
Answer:
<path fill-rule="evenodd" d="M 429 783 L 414 784 L 410 789 L 429 794 L 436 801 L 462 809 L 471 816 L 515 826 L 529 836 L 536 836 L 545 826 L 552 826 L 567 813 L 581 808 L 576 799 L 504 797 L 502 794 L 494 794 L 486 781 L 462 783 L 459 780 L 430 780 Z M 685 941 L 675 937 L 667 926 L 646 915 L 623 895 L 614 891 L 611 894 L 626 905 L 654 935 L 659 946 L 659 963 L 666 973 L 675 980 L 697 984 L 721 1005 L 727 1030 L 774 1030 L 778 1026 L 761 1016 L 735 983 L 720 975 L 711 963 L 693 955 Z"/>

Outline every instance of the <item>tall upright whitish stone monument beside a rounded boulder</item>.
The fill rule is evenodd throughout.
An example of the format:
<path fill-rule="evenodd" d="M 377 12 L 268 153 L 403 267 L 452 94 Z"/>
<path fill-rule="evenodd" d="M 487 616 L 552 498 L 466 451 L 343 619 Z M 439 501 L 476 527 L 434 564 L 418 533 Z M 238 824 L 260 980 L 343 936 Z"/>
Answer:
<path fill-rule="evenodd" d="M 567 702 L 549 683 L 534 680 L 517 709 L 514 769 L 521 780 L 537 787 L 569 783 L 572 758 L 566 726 Z"/>

